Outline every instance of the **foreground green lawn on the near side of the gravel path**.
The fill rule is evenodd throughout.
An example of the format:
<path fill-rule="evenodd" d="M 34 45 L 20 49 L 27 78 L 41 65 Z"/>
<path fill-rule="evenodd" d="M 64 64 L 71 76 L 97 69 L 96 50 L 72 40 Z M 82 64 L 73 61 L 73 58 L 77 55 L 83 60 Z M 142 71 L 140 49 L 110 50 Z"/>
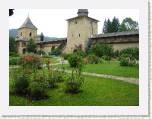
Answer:
<path fill-rule="evenodd" d="M 11 80 L 10 80 L 11 83 Z M 139 86 L 123 81 L 85 76 L 82 92 L 67 94 L 64 82 L 58 88 L 49 90 L 49 98 L 31 101 L 25 97 L 10 94 L 10 106 L 137 106 Z M 10 89 L 11 90 L 11 89 Z"/>

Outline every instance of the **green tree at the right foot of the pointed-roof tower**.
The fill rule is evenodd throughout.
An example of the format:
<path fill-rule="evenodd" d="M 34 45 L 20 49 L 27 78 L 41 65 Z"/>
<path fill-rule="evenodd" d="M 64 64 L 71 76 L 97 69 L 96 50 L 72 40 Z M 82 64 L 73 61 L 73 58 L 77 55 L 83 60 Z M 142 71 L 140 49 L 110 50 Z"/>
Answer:
<path fill-rule="evenodd" d="M 26 50 L 28 53 L 36 53 L 36 44 L 33 39 L 30 39 L 27 43 Z"/>

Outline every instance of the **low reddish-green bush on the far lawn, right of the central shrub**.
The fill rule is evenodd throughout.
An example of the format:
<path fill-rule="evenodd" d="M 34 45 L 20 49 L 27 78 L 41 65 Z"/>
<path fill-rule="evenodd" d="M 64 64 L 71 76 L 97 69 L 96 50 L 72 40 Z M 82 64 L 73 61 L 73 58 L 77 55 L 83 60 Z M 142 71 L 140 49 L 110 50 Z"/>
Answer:
<path fill-rule="evenodd" d="M 95 55 L 88 55 L 85 60 L 86 60 L 86 63 L 89 63 L 89 64 L 98 64 L 101 61 L 100 58 Z"/>

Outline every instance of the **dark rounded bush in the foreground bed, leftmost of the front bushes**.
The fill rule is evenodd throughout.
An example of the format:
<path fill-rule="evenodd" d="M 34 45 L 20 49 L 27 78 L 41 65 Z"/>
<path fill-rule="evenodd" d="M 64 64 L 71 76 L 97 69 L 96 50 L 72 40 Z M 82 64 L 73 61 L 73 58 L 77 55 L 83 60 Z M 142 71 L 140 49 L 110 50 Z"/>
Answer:
<path fill-rule="evenodd" d="M 29 77 L 20 75 L 14 80 L 13 92 L 17 95 L 25 95 L 28 93 Z"/>

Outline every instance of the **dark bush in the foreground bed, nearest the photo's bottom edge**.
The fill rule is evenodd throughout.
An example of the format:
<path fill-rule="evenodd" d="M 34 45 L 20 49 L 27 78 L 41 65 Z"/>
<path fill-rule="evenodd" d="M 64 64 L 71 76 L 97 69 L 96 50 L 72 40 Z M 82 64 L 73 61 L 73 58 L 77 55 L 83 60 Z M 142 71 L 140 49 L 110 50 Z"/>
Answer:
<path fill-rule="evenodd" d="M 34 80 L 29 85 L 29 96 L 33 100 L 40 100 L 48 97 L 48 85 L 44 81 Z"/>

